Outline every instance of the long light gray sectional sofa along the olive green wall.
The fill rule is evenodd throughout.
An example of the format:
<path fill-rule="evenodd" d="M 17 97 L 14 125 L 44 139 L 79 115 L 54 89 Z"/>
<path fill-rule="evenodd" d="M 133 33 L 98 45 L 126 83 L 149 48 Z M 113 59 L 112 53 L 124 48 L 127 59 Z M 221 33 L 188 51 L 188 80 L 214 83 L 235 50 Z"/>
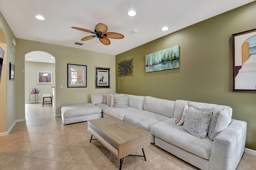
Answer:
<path fill-rule="evenodd" d="M 151 143 L 202 170 L 236 169 L 245 148 L 247 123 L 231 119 L 232 108 L 224 105 L 183 100 L 169 101 L 136 95 L 127 95 L 126 100 L 119 101 L 118 96 L 124 96 L 124 94 L 92 94 L 91 100 L 92 104 L 102 109 L 102 117 L 113 116 L 150 131 Z M 115 106 L 113 105 L 115 101 L 121 104 L 116 103 Z M 193 132 L 186 131 L 188 129 L 184 130 L 183 125 L 176 125 L 188 103 L 199 109 L 214 109 L 210 113 L 204 111 L 206 117 L 208 115 L 205 121 L 207 126 L 209 124 L 215 126 L 214 138 L 212 135 L 210 137 L 212 140 L 208 137 L 209 132 L 205 137 L 198 138 L 192 135 Z M 186 125 L 191 115 L 199 113 L 194 108 L 188 108 L 187 117 L 183 116 L 186 119 Z M 211 119 L 217 120 L 216 124 Z M 223 122 L 222 119 L 226 121 Z"/>

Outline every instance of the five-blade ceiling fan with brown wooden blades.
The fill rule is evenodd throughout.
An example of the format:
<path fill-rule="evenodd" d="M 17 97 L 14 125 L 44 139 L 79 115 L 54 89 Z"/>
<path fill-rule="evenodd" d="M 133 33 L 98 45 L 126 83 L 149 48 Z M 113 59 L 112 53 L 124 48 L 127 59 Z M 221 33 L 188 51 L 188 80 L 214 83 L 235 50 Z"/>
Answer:
<path fill-rule="evenodd" d="M 84 28 L 78 28 L 78 27 L 71 27 L 76 30 L 89 32 L 92 34 L 95 34 L 93 36 L 87 36 L 81 39 L 81 41 L 90 40 L 92 38 L 99 38 L 100 42 L 102 42 L 105 45 L 110 44 L 110 40 L 108 38 L 114 38 L 114 39 L 122 39 L 124 36 L 122 34 L 116 33 L 116 32 L 106 32 L 108 30 L 108 27 L 105 24 L 99 23 L 96 25 L 94 32 L 90 30 L 86 30 Z"/>

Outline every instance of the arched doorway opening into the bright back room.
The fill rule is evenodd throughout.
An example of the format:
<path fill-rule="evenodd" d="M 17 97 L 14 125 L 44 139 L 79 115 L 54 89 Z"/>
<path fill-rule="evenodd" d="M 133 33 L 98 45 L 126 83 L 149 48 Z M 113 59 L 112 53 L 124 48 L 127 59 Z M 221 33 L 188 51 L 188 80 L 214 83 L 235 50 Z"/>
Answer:
<path fill-rule="evenodd" d="M 48 74 L 47 81 L 40 81 L 40 74 Z M 34 103 L 36 100 L 42 106 L 42 95 L 53 95 L 53 106 L 55 115 L 55 57 L 45 51 L 31 51 L 25 55 L 25 103 Z M 31 95 L 32 89 L 38 89 L 38 95 Z M 45 105 L 44 105 L 45 107 Z M 53 116 L 54 116 L 53 115 Z"/>

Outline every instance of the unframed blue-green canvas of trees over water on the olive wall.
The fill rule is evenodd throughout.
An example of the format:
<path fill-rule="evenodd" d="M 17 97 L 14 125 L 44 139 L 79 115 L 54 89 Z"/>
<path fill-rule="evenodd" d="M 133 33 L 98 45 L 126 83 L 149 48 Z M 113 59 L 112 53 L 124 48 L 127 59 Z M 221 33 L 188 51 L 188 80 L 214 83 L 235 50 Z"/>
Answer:
<path fill-rule="evenodd" d="M 146 73 L 180 68 L 180 46 L 175 45 L 147 54 L 145 59 Z"/>

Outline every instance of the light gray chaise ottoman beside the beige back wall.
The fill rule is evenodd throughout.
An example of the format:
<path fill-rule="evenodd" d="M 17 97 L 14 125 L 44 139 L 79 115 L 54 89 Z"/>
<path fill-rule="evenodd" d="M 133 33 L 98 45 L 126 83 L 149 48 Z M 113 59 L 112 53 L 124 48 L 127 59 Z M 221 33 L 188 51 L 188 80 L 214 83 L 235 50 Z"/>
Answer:
<path fill-rule="evenodd" d="M 61 107 L 63 125 L 101 118 L 101 112 L 102 109 L 92 103 L 63 105 Z"/>

